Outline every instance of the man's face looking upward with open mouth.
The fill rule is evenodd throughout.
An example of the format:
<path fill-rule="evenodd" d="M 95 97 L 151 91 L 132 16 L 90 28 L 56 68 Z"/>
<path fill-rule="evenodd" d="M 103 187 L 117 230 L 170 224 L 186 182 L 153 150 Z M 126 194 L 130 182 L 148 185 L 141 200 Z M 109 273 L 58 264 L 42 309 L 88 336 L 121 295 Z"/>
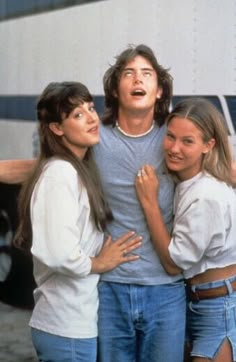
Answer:
<path fill-rule="evenodd" d="M 126 64 L 118 84 L 120 110 L 153 112 L 156 99 L 161 94 L 157 74 L 146 58 L 138 55 Z"/>

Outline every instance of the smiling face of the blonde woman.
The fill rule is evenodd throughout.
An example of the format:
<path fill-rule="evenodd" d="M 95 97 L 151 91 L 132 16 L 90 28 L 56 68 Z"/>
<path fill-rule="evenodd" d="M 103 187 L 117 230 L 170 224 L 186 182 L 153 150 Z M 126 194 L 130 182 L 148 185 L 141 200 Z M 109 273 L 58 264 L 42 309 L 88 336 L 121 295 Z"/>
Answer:
<path fill-rule="evenodd" d="M 214 142 L 204 142 L 201 130 L 189 119 L 173 117 L 163 146 L 167 167 L 183 181 L 200 172 L 204 154 Z"/>

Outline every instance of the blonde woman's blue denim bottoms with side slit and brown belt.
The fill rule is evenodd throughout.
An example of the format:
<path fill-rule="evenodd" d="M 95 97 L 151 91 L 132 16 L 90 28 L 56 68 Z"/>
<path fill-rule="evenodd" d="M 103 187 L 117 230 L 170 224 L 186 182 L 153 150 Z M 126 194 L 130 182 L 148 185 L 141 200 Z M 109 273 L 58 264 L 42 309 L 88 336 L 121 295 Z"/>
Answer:
<path fill-rule="evenodd" d="M 236 361 L 236 292 L 233 292 L 230 283 L 233 280 L 236 276 L 192 287 L 194 291 L 226 285 L 229 293 L 224 297 L 188 303 L 187 330 L 193 345 L 192 356 L 214 359 L 227 338 Z"/>

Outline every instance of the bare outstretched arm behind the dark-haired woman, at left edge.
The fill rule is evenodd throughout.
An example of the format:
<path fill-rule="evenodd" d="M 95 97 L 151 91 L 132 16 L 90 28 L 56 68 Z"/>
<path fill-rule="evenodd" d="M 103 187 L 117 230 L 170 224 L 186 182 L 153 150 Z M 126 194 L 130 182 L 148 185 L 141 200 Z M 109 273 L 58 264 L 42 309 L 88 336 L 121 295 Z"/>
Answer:
<path fill-rule="evenodd" d="M 1 160 L 0 182 L 8 184 L 22 183 L 32 170 L 35 160 Z"/>

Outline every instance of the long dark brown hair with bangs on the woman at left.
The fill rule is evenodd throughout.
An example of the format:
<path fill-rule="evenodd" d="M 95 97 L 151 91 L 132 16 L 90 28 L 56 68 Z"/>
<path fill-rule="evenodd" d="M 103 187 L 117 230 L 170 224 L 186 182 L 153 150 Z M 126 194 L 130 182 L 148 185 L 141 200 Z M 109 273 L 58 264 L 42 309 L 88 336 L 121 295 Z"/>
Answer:
<path fill-rule="evenodd" d="M 26 251 L 29 251 L 32 245 L 31 196 L 45 164 L 52 157 L 66 160 L 76 169 L 87 189 L 92 219 L 97 229 L 104 230 L 107 221 L 112 219 L 110 209 L 103 196 L 91 149 L 89 148 L 84 159 L 80 160 L 63 144 L 61 137 L 57 136 L 49 128 L 51 122 L 62 123 L 74 108 L 84 102 L 92 101 L 93 98 L 88 89 L 78 82 L 50 83 L 38 100 L 37 116 L 40 153 L 36 165 L 27 181 L 23 184 L 19 195 L 19 226 L 14 238 L 14 244 Z"/>

